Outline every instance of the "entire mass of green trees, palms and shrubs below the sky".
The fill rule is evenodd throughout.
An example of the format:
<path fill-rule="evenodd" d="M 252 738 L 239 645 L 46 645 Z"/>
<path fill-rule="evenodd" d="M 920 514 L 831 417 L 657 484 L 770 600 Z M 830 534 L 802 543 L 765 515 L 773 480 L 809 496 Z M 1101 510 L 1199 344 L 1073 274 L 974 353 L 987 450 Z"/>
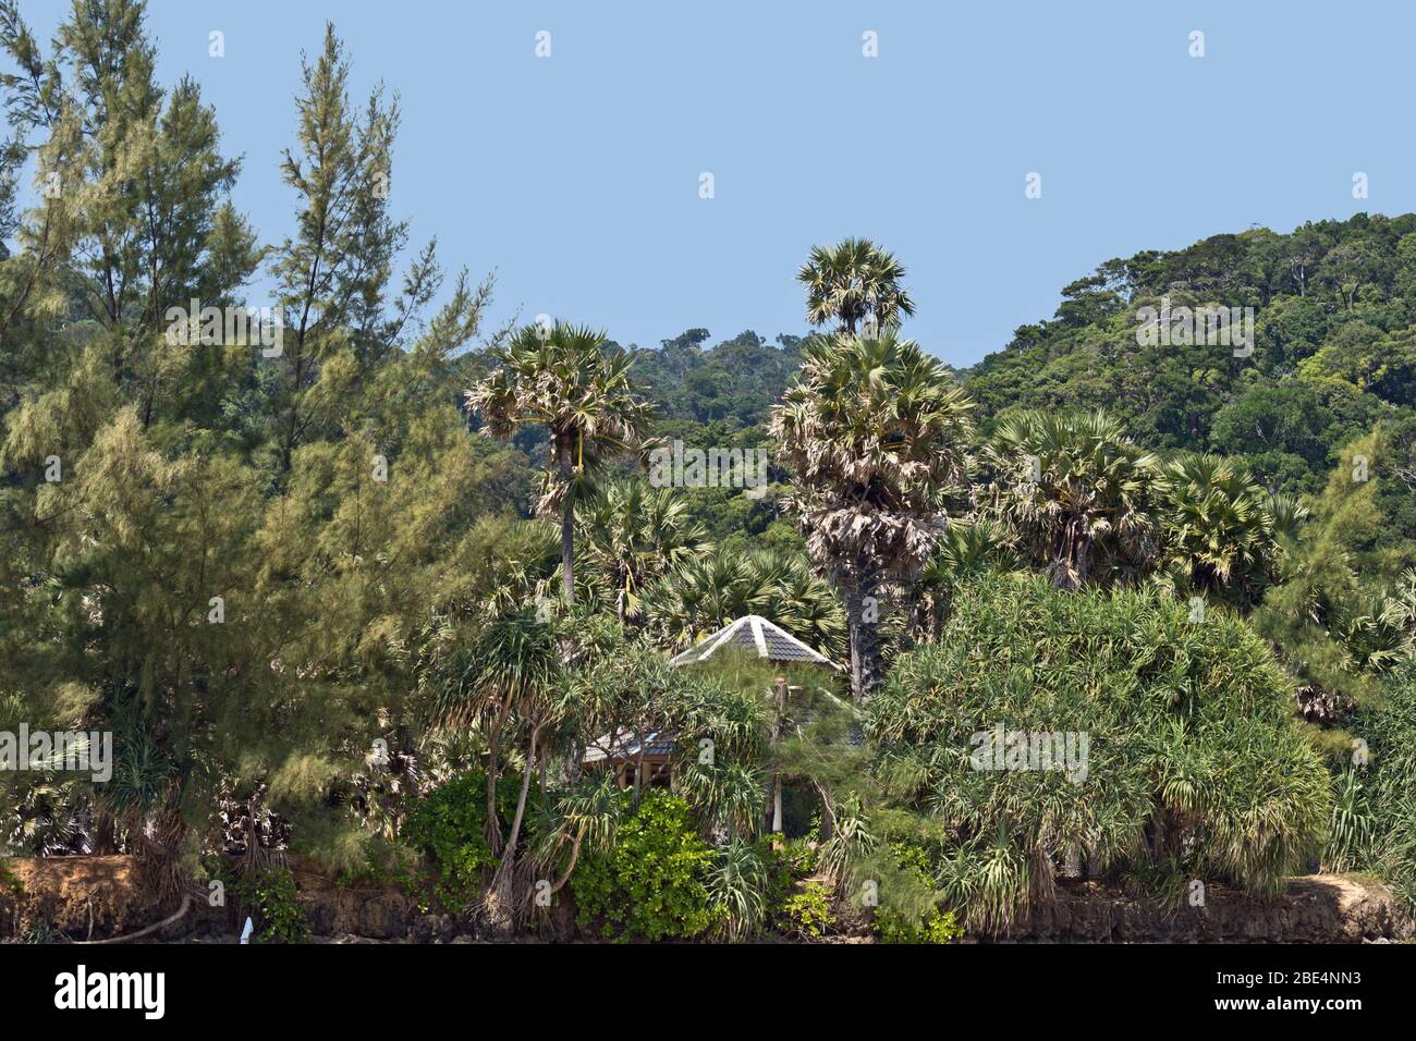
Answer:
<path fill-rule="evenodd" d="M 0 725 L 110 731 L 116 759 L 103 786 L 0 778 L 7 851 L 191 864 L 222 847 L 222 793 L 259 787 L 302 851 L 449 909 L 497 867 L 491 904 L 523 906 L 520 880 L 578 850 L 610 935 L 738 939 L 779 909 L 811 935 L 824 898 L 784 889 L 813 858 L 752 843 L 777 776 L 821 806 L 814 867 L 882 885 L 891 940 L 947 940 L 952 911 L 1007 925 L 1075 858 L 1158 894 L 1267 892 L 1324 830 L 1330 865 L 1416 892 L 1416 215 L 1109 261 L 966 388 L 895 334 L 905 268 L 868 239 L 811 251 L 810 340 L 483 337 L 490 279 L 446 279 L 368 190 L 398 103 L 351 98 L 333 28 L 279 166 L 290 231 L 263 244 L 200 88 L 159 82 L 142 4 L 74 4 L 48 50 L 11 0 L 0 23 Z M 61 195 L 21 194 L 31 160 Z M 232 306 L 261 265 L 282 351 L 169 336 L 169 307 Z M 1255 353 L 1137 341 L 1163 296 L 1256 307 Z M 769 494 L 646 489 L 656 435 L 775 449 Z M 1020 561 L 1085 592 L 995 574 Z M 1164 589 L 1096 589 L 1143 579 L 1215 603 L 1197 625 Z M 861 698 L 893 663 L 871 742 L 816 680 L 775 718 L 750 667 L 667 666 L 749 612 L 850 656 Z M 1086 732 L 1089 779 L 970 769 L 994 724 Z M 673 736 L 673 796 L 558 787 L 622 732 Z M 459 762 L 432 769 L 449 734 Z M 374 763 L 375 741 L 408 755 Z M 231 884 L 262 939 L 303 935 L 287 872 Z"/>

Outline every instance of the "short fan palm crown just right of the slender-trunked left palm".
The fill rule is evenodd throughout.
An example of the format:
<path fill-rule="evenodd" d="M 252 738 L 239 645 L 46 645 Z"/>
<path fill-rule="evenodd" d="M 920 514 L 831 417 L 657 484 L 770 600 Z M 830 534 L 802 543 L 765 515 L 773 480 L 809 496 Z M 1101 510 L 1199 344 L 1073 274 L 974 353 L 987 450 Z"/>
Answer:
<path fill-rule="evenodd" d="M 620 622 L 639 619 L 644 586 L 712 550 L 707 530 L 671 489 L 616 482 L 581 511 L 582 557 L 603 572 Z"/>

